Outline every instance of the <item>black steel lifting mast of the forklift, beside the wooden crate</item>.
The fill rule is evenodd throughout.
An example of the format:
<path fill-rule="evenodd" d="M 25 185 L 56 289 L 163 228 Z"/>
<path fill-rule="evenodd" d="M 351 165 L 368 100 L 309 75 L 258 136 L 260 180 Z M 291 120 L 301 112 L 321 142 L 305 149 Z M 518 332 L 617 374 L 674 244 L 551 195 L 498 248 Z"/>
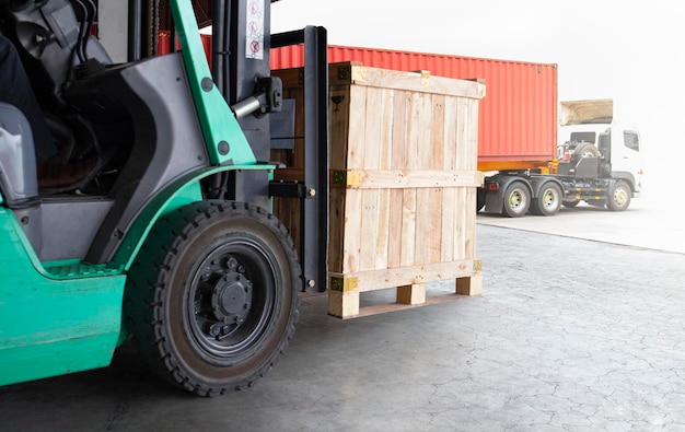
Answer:
<path fill-rule="evenodd" d="M 323 27 L 307 26 L 303 30 L 271 35 L 271 3 L 278 0 L 205 0 L 194 1 L 195 9 L 210 12 L 212 24 L 211 72 L 206 66 L 196 14 L 190 13 L 189 2 L 178 0 L 129 1 L 129 60 L 155 54 L 160 26 L 169 26 L 171 40 L 181 40 L 182 54 L 188 63 L 195 65 L 197 77 L 196 98 L 207 95 L 202 83 L 218 91 L 235 114 L 252 149 L 256 163 L 267 163 L 270 156 L 271 135 L 269 113 L 281 110 L 281 85 L 270 77 L 269 54 L 271 48 L 304 45 L 304 182 L 272 182 L 267 171 L 244 171 L 240 175 L 229 173 L 225 182 L 227 199 L 253 202 L 270 208 L 271 197 L 289 197 L 301 200 L 300 257 L 303 291 L 326 290 L 326 247 L 328 201 L 328 77 L 327 36 Z M 165 7 L 171 13 L 164 14 Z M 184 9 L 185 8 L 185 9 Z M 170 22 L 171 21 L 171 22 Z M 160 25 L 162 23 L 162 25 Z M 142 47 L 149 47 L 143 49 Z M 176 45 L 172 44 L 171 50 Z M 209 84 L 207 84 L 209 85 Z M 221 105 L 221 102 L 214 101 Z M 207 102 L 199 107 L 212 106 Z M 222 108 L 208 108 L 208 129 L 221 128 L 228 116 Z M 202 120 L 200 120 L 202 121 Z M 293 131 L 294 133 L 294 131 Z M 217 140 L 220 163 L 234 163 L 221 159 L 221 140 Z M 219 187 L 219 186 L 218 186 Z"/>

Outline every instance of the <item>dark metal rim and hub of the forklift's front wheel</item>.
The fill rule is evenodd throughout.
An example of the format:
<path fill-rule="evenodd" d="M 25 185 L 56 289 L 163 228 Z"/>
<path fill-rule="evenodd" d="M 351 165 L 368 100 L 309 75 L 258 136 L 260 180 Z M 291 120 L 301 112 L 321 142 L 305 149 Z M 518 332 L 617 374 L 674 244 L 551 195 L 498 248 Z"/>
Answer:
<path fill-rule="evenodd" d="M 208 361 L 237 363 L 265 336 L 279 285 L 275 269 L 272 254 L 248 235 L 232 236 L 197 267 L 185 318 Z"/>

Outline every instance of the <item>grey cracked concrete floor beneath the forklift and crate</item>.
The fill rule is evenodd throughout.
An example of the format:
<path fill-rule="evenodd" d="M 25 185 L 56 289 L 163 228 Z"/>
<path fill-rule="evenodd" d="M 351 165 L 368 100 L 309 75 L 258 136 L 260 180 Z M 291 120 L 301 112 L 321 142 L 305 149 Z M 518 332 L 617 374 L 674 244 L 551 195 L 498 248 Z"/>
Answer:
<path fill-rule="evenodd" d="M 0 431 L 685 431 L 685 255 L 478 220 L 481 296 L 345 322 L 307 297 L 254 388 L 198 398 L 123 350 L 0 387 Z"/>

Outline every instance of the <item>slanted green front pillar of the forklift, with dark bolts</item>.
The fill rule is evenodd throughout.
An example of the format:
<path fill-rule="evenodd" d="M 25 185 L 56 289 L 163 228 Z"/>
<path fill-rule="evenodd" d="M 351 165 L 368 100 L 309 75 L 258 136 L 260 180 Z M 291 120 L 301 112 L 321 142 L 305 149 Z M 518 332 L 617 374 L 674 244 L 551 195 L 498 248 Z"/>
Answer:
<path fill-rule="evenodd" d="M 193 4 L 189 0 L 178 0 L 170 1 L 170 5 L 210 162 L 213 165 L 255 164 L 255 155 L 243 130 L 211 79 Z"/>

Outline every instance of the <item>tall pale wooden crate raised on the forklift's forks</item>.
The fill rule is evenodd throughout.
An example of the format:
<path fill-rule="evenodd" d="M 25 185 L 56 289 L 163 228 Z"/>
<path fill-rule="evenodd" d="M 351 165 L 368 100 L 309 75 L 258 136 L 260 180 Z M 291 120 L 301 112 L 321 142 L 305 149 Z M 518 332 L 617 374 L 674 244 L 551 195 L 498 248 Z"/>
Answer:
<path fill-rule="evenodd" d="M 300 71 L 275 74 L 285 96 L 300 105 Z M 398 304 L 426 304 L 426 282 L 433 280 L 454 279 L 455 294 L 478 294 L 477 130 L 485 85 L 359 63 L 332 65 L 329 84 L 328 313 L 357 316 L 360 293 L 395 287 Z M 302 121 L 295 125 L 301 137 Z M 293 151 L 272 152 L 289 166 L 277 178 L 302 177 L 301 148 L 295 140 Z M 297 236 L 299 203 L 278 199 L 275 212 Z"/>

